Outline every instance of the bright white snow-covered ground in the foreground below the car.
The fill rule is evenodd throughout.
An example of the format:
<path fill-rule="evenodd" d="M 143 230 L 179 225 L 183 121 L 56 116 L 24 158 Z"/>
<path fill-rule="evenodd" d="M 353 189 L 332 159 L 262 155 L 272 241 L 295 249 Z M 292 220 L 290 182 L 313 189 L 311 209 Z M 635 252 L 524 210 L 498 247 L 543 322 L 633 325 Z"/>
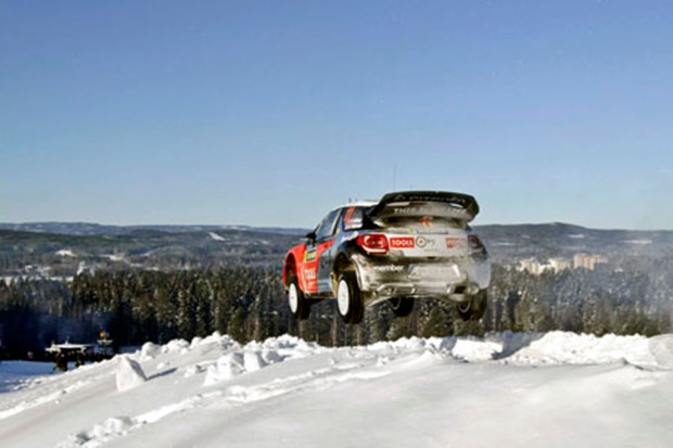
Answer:
<path fill-rule="evenodd" d="M 673 335 L 325 348 L 214 334 L 26 373 L 0 364 L 3 448 L 673 446 Z"/>

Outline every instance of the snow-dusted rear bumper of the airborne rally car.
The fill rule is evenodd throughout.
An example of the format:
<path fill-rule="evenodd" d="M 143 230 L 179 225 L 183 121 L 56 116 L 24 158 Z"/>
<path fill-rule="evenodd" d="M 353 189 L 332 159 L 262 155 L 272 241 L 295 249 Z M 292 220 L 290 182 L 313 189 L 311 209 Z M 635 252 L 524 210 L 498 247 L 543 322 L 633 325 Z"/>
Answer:
<path fill-rule="evenodd" d="M 486 256 L 450 259 L 353 257 L 363 298 L 372 305 L 394 297 L 436 297 L 454 302 L 488 287 Z"/>

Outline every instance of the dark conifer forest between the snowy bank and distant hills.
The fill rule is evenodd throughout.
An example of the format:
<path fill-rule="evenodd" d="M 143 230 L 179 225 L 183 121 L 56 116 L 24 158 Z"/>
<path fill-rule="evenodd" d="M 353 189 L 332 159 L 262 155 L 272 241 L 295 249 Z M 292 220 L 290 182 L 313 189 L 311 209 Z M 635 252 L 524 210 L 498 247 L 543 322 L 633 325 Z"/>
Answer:
<path fill-rule="evenodd" d="M 310 318 L 297 323 L 276 269 L 99 271 L 69 283 L 0 281 L 0 335 L 5 355 L 15 357 L 54 341 L 91 342 L 103 330 L 117 349 L 214 331 L 240 342 L 290 333 L 327 346 L 504 331 L 653 335 L 672 330 L 660 281 L 637 270 L 533 276 L 495 265 L 480 322 L 462 322 L 452 304 L 429 298 L 417 300 L 408 318 L 381 304 L 360 325 L 345 325 L 332 300 L 315 304 Z"/>

